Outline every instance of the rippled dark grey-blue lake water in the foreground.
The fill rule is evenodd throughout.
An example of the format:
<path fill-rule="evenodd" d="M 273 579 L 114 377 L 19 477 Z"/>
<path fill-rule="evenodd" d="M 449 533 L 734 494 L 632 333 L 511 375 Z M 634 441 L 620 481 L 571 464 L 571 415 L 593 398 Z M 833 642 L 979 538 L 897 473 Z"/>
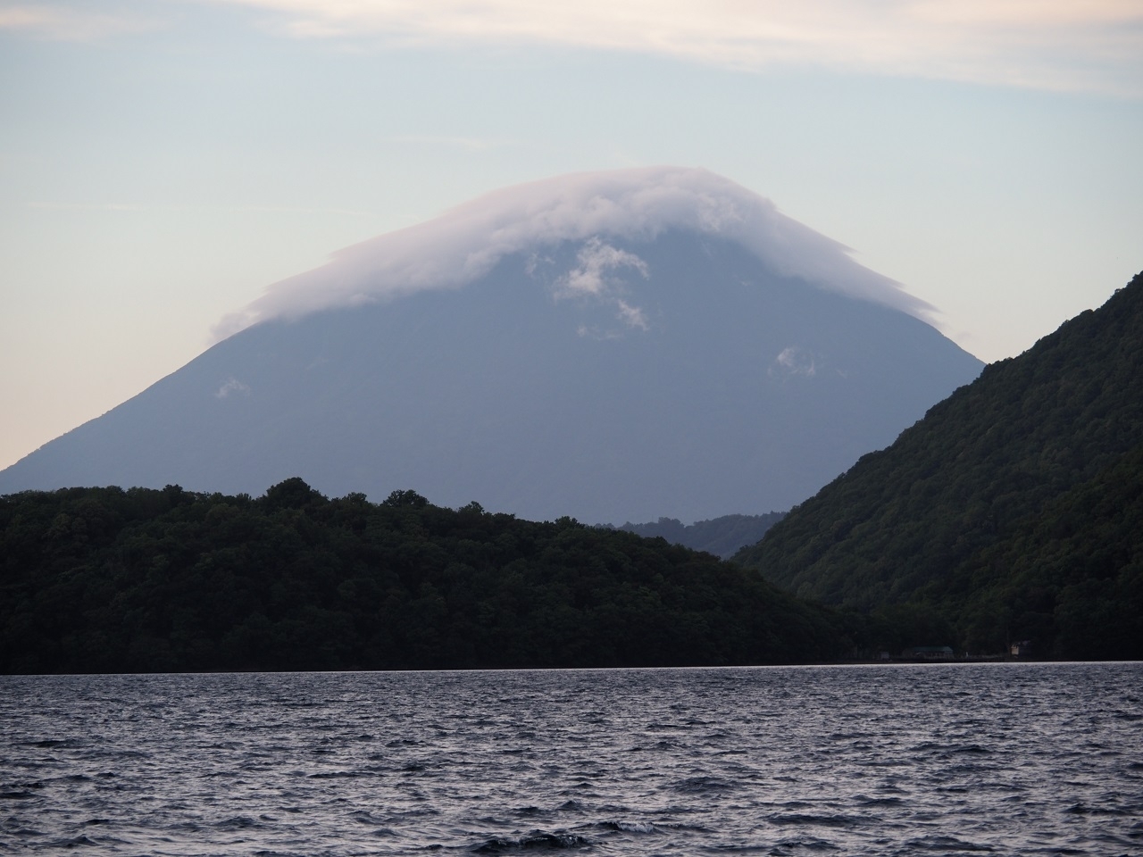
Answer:
<path fill-rule="evenodd" d="M 1141 855 L 1143 664 L 0 676 L 0 852 Z"/>

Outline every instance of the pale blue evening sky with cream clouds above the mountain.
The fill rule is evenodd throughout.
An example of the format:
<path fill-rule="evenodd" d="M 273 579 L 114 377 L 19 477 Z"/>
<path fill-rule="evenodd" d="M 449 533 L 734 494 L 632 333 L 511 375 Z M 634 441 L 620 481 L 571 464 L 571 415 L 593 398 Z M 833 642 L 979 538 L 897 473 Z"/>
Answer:
<path fill-rule="evenodd" d="M 1143 0 L 0 0 L 0 467 L 577 171 L 725 176 L 1013 357 L 1143 270 L 1141 152 Z"/>

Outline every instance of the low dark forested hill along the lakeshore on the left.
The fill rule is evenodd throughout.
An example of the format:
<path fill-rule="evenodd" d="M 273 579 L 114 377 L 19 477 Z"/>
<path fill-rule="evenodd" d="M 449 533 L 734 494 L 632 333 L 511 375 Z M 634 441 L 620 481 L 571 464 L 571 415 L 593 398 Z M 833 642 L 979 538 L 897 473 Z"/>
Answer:
<path fill-rule="evenodd" d="M 0 497 L 0 671 L 828 660 L 839 615 L 717 558 L 394 491 Z"/>

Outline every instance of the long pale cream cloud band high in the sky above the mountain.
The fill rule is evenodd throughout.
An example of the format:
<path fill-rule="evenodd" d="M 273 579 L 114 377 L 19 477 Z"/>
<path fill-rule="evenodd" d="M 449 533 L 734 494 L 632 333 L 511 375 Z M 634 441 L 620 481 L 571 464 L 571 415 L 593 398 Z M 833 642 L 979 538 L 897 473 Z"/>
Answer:
<path fill-rule="evenodd" d="M 296 38 L 539 43 L 1143 95 L 1138 0 L 209 0 Z"/>

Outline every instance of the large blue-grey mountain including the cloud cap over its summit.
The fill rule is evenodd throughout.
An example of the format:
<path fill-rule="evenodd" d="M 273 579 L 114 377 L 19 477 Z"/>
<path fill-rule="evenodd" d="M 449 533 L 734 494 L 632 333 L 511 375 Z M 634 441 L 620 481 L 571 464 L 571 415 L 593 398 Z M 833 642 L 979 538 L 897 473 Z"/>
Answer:
<path fill-rule="evenodd" d="M 786 508 L 976 377 L 926 312 L 704 170 L 566 176 L 271 287 L 0 491 L 299 474 L 531 519 Z"/>

